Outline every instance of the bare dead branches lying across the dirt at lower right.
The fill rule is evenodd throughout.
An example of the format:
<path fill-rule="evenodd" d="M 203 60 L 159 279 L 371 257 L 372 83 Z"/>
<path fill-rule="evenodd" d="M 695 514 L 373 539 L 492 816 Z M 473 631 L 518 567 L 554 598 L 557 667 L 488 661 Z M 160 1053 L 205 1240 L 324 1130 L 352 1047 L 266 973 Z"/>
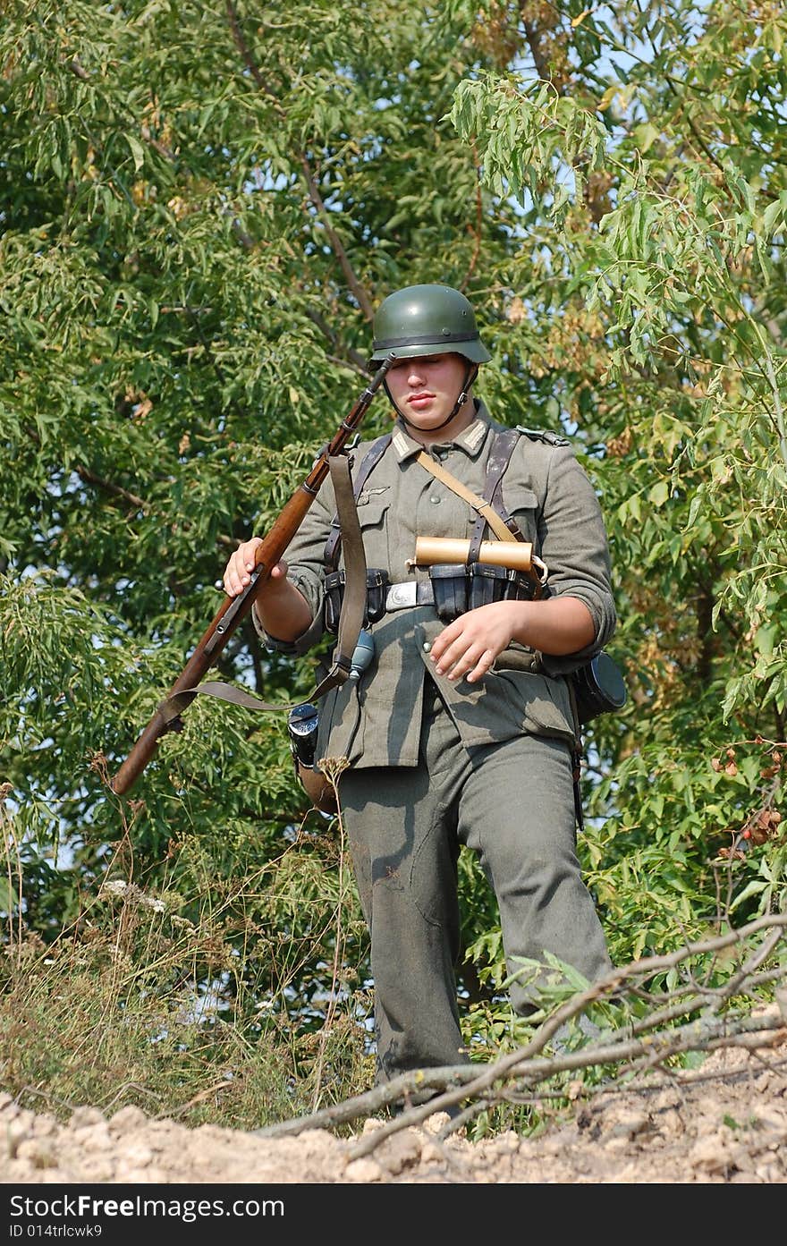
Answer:
<path fill-rule="evenodd" d="M 645 1089 L 653 1085 L 655 1070 L 661 1074 L 669 1070 L 672 1082 L 680 1080 L 675 1059 L 689 1052 L 710 1054 L 733 1047 L 760 1052 L 787 1043 L 786 944 L 787 913 L 781 913 L 757 918 L 717 938 L 687 943 L 666 956 L 633 961 L 574 994 L 545 1018 L 527 1045 L 497 1060 L 416 1069 L 344 1103 L 255 1133 L 260 1138 L 291 1138 L 308 1129 L 330 1129 L 366 1119 L 403 1103 L 405 1110 L 355 1143 L 351 1158 L 360 1159 L 391 1134 L 418 1125 L 436 1113 L 456 1110 L 459 1104 L 466 1106 L 448 1120 L 438 1138 L 446 1138 L 496 1105 L 537 1099 L 543 1103 L 555 1096 L 549 1083 L 559 1080 L 560 1074 L 599 1067 L 609 1073 L 594 1093 Z M 723 984 L 707 986 L 710 966 L 731 947 L 741 953 L 735 971 Z M 704 978 L 694 962 L 700 962 Z M 679 969 L 680 986 L 669 994 L 649 992 L 649 981 L 670 969 Z M 757 991 L 760 997 L 755 994 Z M 762 1004 L 763 992 L 775 1001 L 767 1007 Z M 655 1007 L 634 1015 L 635 1001 L 640 1009 L 643 1002 Z M 599 1029 L 590 1040 L 583 1040 L 582 1030 L 573 1023 L 599 1002 L 619 1012 L 623 1023 Z"/>

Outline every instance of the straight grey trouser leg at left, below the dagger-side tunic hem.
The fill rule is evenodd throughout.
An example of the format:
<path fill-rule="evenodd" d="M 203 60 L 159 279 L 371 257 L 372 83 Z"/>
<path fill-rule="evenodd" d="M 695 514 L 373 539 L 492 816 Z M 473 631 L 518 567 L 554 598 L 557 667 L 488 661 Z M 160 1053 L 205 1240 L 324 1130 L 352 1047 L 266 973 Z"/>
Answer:
<path fill-rule="evenodd" d="M 341 779 L 345 826 L 371 934 L 379 1080 L 467 1059 L 456 997 L 452 731 L 447 715 L 435 724 L 427 713 L 417 768 L 370 768 Z"/>

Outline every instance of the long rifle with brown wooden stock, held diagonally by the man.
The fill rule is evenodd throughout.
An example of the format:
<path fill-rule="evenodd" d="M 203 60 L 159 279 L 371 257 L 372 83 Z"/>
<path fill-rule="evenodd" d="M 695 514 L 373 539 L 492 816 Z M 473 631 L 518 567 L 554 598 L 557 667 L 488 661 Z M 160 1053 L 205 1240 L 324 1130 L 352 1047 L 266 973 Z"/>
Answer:
<path fill-rule="evenodd" d="M 189 705 L 197 695 L 197 684 L 204 679 L 238 624 L 250 612 L 258 593 L 270 579 L 271 569 L 284 556 L 286 547 L 303 523 L 306 511 L 318 496 L 320 486 L 330 471 L 329 460 L 344 450 L 346 442 L 357 429 L 395 358 L 396 355 L 391 353 L 384 360 L 367 388 L 356 400 L 350 414 L 341 421 L 332 440 L 320 451 L 306 480 L 298 487 L 289 501 L 285 502 L 273 527 L 263 538 L 263 543 L 257 548 L 250 584 L 238 597 L 228 597 L 223 602 L 208 630 L 169 689 L 168 695 L 161 701 L 151 721 L 112 779 L 112 791 L 118 796 L 127 792 L 139 778 L 153 756 L 159 738 L 174 729 L 182 709 Z M 177 709 L 173 710 L 169 703 L 176 697 Z"/>

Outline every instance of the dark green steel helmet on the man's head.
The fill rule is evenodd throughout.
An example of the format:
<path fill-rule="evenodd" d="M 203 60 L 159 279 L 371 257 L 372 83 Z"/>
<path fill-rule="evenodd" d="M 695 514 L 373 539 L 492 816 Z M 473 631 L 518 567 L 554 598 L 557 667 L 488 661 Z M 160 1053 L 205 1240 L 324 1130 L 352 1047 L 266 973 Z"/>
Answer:
<path fill-rule="evenodd" d="M 492 358 L 471 303 L 451 285 L 407 285 L 389 294 L 377 308 L 374 339 L 370 368 L 391 351 L 398 359 L 456 353 L 472 364 Z"/>

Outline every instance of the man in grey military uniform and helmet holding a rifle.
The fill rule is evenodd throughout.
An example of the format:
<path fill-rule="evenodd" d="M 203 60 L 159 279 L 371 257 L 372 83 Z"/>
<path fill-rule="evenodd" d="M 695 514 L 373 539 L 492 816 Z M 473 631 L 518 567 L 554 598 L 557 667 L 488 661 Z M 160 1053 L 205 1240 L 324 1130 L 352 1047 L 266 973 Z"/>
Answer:
<path fill-rule="evenodd" d="M 350 763 L 339 790 L 371 933 L 380 1082 L 467 1059 L 455 978 L 461 845 L 494 890 L 507 966 L 519 971 L 516 1009 L 532 1011 L 519 958 L 553 953 L 590 981 L 611 968 L 577 856 L 565 675 L 606 644 L 615 609 L 599 502 L 568 441 L 506 429 L 472 395 L 491 356 L 464 295 L 398 290 L 374 338 L 374 370 L 396 354 L 395 425 L 355 451 L 354 473 L 366 563 L 386 587 L 371 664 L 320 705 L 316 756 Z M 538 569 L 478 559 L 491 533 L 457 482 L 532 542 L 545 592 Z M 325 579 L 341 566 L 334 518 L 326 483 L 257 599 L 273 648 L 304 653 L 325 633 Z M 413 564 L 417 537 L 464 538 L 476 557 Z M 230 596 L 249 583 L 258 543 L 230 557 Z"/>

